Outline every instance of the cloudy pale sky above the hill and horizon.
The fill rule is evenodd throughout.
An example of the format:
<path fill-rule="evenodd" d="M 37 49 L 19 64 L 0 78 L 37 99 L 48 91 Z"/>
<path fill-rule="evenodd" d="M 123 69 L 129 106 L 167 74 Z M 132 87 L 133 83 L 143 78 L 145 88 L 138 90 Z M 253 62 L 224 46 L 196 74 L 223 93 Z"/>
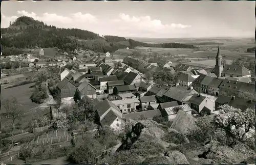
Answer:
<path fill-rule="evenodd" d="M 251 1 L 4 1 L 1 28 L 29 16 L 58 28 L 148 38 L 254 37 Z"/>

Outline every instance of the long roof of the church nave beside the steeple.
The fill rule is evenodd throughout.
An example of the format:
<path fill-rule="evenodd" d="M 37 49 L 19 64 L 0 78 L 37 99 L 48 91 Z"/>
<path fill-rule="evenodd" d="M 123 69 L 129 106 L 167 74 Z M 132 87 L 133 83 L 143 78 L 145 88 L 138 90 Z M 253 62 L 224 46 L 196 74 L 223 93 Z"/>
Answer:
<path fill-rule="evenodd" d="M 240 76 L 246 76 L 251 74 L 249 69 L 238 65 L 225 65 L 222 73 Z"/>

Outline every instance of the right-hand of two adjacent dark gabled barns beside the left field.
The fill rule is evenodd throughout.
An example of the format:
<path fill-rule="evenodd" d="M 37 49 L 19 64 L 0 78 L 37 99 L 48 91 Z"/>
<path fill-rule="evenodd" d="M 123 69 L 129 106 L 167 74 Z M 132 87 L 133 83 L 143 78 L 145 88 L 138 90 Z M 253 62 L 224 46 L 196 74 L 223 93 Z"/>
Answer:
<path fill-rule="evenodd" d="M 84 96 L 88 96 L 90 98 L 96 98 L 96 88 L 90 84 L 88 81 L 83 81 L 78 87 L 77 87 L 77 98 L 81 99 Z"/>

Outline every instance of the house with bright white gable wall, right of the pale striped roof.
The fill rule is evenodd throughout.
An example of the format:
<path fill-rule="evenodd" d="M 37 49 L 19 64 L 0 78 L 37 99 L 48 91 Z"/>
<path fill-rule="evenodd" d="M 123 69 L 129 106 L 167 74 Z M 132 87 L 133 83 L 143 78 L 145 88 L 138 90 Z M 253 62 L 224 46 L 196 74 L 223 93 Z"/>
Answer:
<path fill-rule="evenodd" d="M 200 94 L 193 95 L 188 102 L 190 103 L 190 107 L 198 113 L 201 113 L 204 108 L 209 110 L 209 112 L 205 112 L 207 114 L 215 111 L 215 102 Z"/>

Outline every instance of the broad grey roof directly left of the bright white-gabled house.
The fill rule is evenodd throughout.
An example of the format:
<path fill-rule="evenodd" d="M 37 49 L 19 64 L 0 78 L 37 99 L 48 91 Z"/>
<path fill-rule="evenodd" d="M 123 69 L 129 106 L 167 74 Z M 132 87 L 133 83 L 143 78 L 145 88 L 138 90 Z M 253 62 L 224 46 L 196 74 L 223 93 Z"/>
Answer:
<path fill-rule="evenodd" d="M 172 87 L 170 88 L 164 96 L 167 96 L 169 98 L 175 99 L 177 101 L 183 102 L 184 99 L 190 95 L 190 93 L 194 91 L 193 89 L 187 89 L 183 87 Z"/>

